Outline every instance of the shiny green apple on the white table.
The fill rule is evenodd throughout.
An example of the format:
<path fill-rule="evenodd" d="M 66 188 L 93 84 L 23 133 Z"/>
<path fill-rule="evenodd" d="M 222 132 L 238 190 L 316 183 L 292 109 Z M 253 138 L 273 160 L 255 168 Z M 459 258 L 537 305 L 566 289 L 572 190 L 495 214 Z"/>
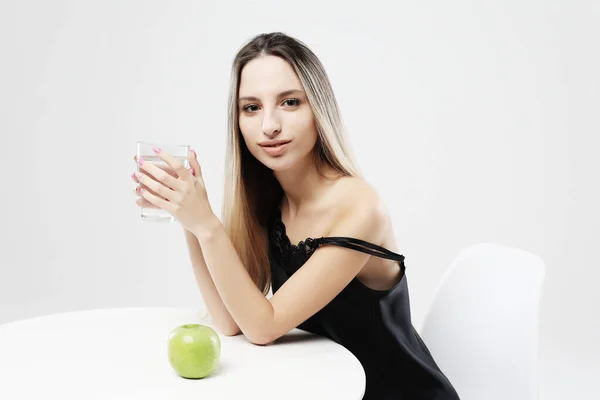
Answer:
<path fill-rule="evenodd" d="M 221 341 L 211 327 L 181 325 L 169 334 L 169 362 L 184 378 L 204 378 L 219 363 Z"/>

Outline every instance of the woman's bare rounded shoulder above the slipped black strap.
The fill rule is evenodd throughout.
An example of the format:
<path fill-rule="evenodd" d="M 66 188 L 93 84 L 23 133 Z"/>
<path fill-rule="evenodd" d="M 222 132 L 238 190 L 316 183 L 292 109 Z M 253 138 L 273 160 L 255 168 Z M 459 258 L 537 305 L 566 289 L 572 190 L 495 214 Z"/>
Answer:
<path fill-rule="evenodd" d="M 336 218 L 339 223 L 368 223 L 371 236 L 381 238 L 391 221 L 388 209 L 377 190 L 364 179 L 345 177 L 334 187 Z"/>

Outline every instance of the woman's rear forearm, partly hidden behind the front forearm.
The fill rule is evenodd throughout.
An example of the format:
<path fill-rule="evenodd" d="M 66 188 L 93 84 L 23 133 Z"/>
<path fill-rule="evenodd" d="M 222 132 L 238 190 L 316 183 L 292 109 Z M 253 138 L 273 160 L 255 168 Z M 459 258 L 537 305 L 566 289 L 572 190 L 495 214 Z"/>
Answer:
<path fill-rule="evenodd" d="M 198 239 L 187 229 L 184 229 L 184 232 L 196 282 L 198 283 L 204 304 L 206 305 L 208 313 L 212 317 L 216 328 L 227 336 L 240 333 L 240 328 L 231 317 L 225 304 L 223 304 L 221 296 L 215 287 L 206 266 L 206 261 L 204 260 L 204 255 Z"/>

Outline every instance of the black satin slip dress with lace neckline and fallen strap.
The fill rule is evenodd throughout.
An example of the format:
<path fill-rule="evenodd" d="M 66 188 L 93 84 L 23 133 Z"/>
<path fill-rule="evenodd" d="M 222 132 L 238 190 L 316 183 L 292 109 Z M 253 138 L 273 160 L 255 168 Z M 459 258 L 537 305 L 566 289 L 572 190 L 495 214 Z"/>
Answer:
<path fill-rule="evenodd" d="M 412 325 L 404 256 L 348 237 L 307 238 L 294 245 L 287 237 L 281 210 L 275 207 L 269 220 L 273 293 L 322 245 L 347 247 L 396 260 L 403 276 L 389 290 L 371 289 L 354 278 L 298 329 L 328 337 L 354 354 L 365 370 L 363 399 L 459 399 Z"/>

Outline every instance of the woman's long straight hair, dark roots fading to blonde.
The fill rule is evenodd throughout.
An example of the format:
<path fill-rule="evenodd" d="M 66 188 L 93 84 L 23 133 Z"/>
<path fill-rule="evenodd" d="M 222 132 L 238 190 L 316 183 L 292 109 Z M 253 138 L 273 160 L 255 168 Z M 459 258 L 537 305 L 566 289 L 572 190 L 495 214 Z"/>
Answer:
<path fill-rule="evenodd" d="M 248 150 L 238 124 L 238 95 L 244 66 L 261 56 L 287 61 L 300 79 L 315 117 L 317 141 L 313 160 L 324 176 L 332 169 L 340 176 L 361 176 L 345 142 L 340 112 L 319 59 L 306 45 L 281 32 L 265 33 L 246 42 L 236 54 L 229 90 L 225 191 L 222 222 L 233 246 L 256 286 L 266 295 L 271 285 L 268 221 L 283 194 L 273 172 Z"/>

